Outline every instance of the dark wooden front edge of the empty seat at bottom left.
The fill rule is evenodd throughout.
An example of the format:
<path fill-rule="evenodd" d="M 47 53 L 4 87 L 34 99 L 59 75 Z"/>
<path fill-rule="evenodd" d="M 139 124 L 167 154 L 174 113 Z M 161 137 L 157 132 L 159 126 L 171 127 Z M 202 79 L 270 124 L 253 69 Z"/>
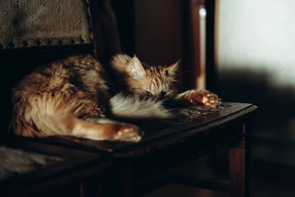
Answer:
<path fill-rule="evenodd" d="M 100 175 L 112 160 L 104 157 L 69 159 L 18 177 L 0 181 L 1 195 L 25 195 L 68 185 L 89 176 Z"/>

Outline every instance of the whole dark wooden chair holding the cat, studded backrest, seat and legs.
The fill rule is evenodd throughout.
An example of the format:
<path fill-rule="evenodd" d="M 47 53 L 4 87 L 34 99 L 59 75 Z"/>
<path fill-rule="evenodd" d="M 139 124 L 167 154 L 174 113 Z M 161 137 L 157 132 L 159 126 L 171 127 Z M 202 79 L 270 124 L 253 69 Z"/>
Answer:
<path fill-rule="evenodd" d="M 8 73 L 5 72 L 5 103 L 9 102 L 9 89 L 15 82 L 40 64 L 77 53 L 90 53 L 102 63 L 107 63 L 112 54 L 120 52 L 108 1 L 53 0 L 48 3 L 47 0 L 41 0 L 38 2 L 41 3 L 0 1 L 2 48 L 0 60 L 8 69 Z M 31 13 L 35 10 L 41 15 L 46 13 L 46 16 L 56 16 L 56 18 L 31 17 Z M 79 13 L 79 18 L 77 15 L 73 16 L 73 13 Z M 141 196 L 163 184 L 175 183 L 226 191 L 230 192 L 232 197 L 247 197 L 249 196 L 251 117 L 256 109 L 256 106 L 245 103 L 223 103 L 216 109 L 176 108 L 177 113 L 181 115 L 179 119 L 135 123 L 146 131 L 143 140 L 136 144 L 67 136 L 26 140 L 29 141 L 27 144 L 37 141 L 38 146 L 53 144 L 111 156 L 113 164 L 104 171 L 105 196 Z M 9 108 L 6 109 L 6 114 L 9 114 L 8 111 Z M 7 115 L 7 123 L 9 120 L 10 116 Z M 9 140 L 10 137 L 5 136 L 3 139 Z M 167 172 L 169 168 L 198 158 L 224 145 L 231 147 L 229 181 L 208 180 Z M 87 168 L 87 165 L 84 167 Z M 68 176 L 71 176 L 71 173 Z M 95 185 L 92 186 L 95 188 Z"/>

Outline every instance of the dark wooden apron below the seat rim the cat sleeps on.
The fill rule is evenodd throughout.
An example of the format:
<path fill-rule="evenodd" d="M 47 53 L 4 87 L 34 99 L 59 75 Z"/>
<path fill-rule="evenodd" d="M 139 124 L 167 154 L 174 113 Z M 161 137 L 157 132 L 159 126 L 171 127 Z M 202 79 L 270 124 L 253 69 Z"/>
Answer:
<path fill-rule="evenodd" d="M 159 151 L 150 151 L 149 149 L 149 153 L 141 154 L 140 156 L 134 155 L 129 151 L 130 155 L 121 154 L 120 156 L 126 159 L 132 157 L 131 161 L 134 161 L 136 165 L 141 166 L 134 170 L 137 174 L 135 180 L 145 179 L 146 176 L 150 176 L 151 174 L 156 176 L 163 170 L 187 163 L 210 151 L 242 139 L 244 133 L 241 130 L 241 126 L 243 122 L 251 122 L 251 119 L 254 117 L 253 115 L 254 114 L 252 113 L 251 116 L 236 118 L 234 121 L 227 122 L 226 125 L 221 125 L 220 127 L 215 127 L 207 133 L 199 132 L 195 135 L 178 139 L 178 144 L 170 144 L 169 147 L 167 146 L 166 148 L 161 147 L 161 150 Z M 180 135 L 181 133 L 179 133 L 179 136 Z M 166 141 L 169 142 L 170 139 L 168 138 Z M 149 161 L 155 161 L 155 164 L 151 163 L 152 165 L 150 165 L 148 164 Z"/>

